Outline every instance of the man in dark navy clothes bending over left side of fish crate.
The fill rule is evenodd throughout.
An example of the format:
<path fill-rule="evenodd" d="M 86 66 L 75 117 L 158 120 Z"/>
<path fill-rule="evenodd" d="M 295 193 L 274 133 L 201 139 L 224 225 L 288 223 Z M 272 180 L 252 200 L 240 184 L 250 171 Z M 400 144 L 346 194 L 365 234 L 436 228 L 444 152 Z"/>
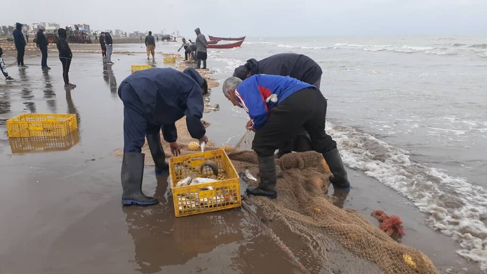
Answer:
<path fill-rule="evenodd" d="M 147 138 L 154 159 L 156 176 L 169 169 L 159 132 L 169 143 L 174 156 L 180 149 L 176 142 L 175 122 L 186 116 L 191 137 L 207 142 L 203 117 L 204 83 L 201 76 L 188 69 L 150 69 L 133 73 L 120 84 L 118 96 L 124 104 L 124 156 L 122 161 L 122 204 L 151 205 L 158 201 L 142 193 L 144 154 Z"/>

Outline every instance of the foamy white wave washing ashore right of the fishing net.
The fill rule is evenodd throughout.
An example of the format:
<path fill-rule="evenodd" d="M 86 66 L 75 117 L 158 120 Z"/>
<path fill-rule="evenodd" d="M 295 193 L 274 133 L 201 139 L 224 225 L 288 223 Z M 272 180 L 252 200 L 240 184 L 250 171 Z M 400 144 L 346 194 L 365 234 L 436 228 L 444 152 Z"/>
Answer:
<path fill-rule="evenodd" d="M 487 191 L 465 178 L 450 176 L 410 159 L 409 153 L 359 132 L 327 125 L 343 161 L 393 188 L 429 214 L 427 225 L 460 243 L 457 254 L 487 270 Z M 353 182 L 352 182 L 353 183 Z"/>

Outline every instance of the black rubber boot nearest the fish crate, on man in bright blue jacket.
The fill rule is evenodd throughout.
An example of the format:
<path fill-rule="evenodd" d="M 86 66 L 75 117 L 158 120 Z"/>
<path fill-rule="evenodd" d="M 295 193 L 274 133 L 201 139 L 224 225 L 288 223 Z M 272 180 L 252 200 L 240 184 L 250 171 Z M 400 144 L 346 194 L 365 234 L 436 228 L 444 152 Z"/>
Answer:
<path fill-rule="evenodd" d="M 259 171 L 261 173 L 259 186 L 247 187 L 247 193 L 276 199 L 276 164 L 274 162 L 274 155 L 259 157 Z"/>

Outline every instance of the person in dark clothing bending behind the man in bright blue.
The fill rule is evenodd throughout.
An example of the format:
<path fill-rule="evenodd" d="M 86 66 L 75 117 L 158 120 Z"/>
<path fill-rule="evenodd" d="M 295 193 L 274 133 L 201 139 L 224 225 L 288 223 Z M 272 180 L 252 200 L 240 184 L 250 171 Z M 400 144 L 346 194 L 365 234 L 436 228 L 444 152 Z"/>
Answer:
<path fill-rule="evenodd" d="M 235 69 L 233 76 L 241 80 L 255 74 L 290 76 L 311 84 L 319 90 L 321 73 L 319 65 L 310 57 L 302 54 L 285 53 L 271 55 L 260 61 L 249 59 L 244 65 Z M 309 150 L 311 150 L 311 141 L 304 128 L 301 128 L 289 142 L 280 147 L 278 157 L 280 158 L 291 151 Z"/>

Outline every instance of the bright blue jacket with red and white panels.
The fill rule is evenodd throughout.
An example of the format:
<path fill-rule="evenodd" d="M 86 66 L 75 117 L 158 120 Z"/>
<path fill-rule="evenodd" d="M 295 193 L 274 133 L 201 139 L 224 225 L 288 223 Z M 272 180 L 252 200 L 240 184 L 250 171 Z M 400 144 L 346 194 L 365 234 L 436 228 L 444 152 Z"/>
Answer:
<path fill-rule="evenodd" d="M 245 79 L 235 95 L 258 130 L 272 109 L 293 93 L 307 88 L 316 87 L 289 76 L 258 74 Z"/>

